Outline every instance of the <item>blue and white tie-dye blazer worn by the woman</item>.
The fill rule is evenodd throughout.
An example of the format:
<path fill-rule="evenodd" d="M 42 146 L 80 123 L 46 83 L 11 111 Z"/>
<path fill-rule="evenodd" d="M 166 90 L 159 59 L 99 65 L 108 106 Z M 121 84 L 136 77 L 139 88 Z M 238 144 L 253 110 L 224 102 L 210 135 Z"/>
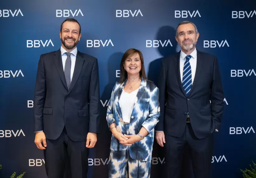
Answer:
<path fill-rule="evenodd" d="M 158 117 L 160 115 L 159 89 L 153 82 L 141 79 L 140 88 L 135 97 L 135 104 L 130 117 L 129 131 L 126 131 L 119 105 L 120 96 L 126 81 L 123 83 L 116 82 L 113 88 L 107 108 L 107 124 L 108 127 L 110 127 L 110 125 L 115 122 L 118 132 L 127 135 L 136 135 L 142 126 L 145 127 L 149 134 L 146 135 L 143 140 L 130 145 L 129 151 L 131 158 L 149 161 L 152 159 L 154 127 L 158 123 Z M 119 143 L 119 140 L 112 135 L 111 150 L 120 151 L 126 150 L 127 148 L 128 146 Z"/>

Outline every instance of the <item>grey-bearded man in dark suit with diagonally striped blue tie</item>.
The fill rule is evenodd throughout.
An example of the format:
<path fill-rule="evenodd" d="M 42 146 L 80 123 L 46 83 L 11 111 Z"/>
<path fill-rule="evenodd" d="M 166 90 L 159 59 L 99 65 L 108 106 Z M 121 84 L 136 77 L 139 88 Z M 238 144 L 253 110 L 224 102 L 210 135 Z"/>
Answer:
<path fill-rule="evenodd" d="M 198 37 L 192 22 L 181 22 L 175 37 L 181 51 L 162 60 L 155 131 L 157 143 L 165 147 L 168 178 L 181 176 L 185 151 L 195 178 L 210 177 L 213 135 L 221 124 L 224 98 L 217 58 L 196 49 Z"/>

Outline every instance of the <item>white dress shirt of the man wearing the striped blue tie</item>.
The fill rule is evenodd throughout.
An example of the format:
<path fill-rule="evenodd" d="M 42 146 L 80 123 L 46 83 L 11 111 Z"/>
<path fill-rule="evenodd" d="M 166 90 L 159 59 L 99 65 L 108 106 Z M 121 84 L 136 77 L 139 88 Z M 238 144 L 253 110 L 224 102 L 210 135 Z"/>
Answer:
<path fill-rule="evenodd" d="M 190 54 L 192 56 L 191 59 L 189 59 L 189 63 L 191 66 L 191 73 L 192 73 L 192 85 L 195 79 L 195 74 L 196 74 L 196 68 L 197 68 L 197 49 L 195 48 L 194 51 Z M 186 56 L 187 54 L 185 54 L 182 50 L 180 51 L 180 79 L 181 79 L 181 83 L 182 83 L 182 78 L 183 78 L 183 67 L 184 67 L 184 63 L 186 62 Z M 163 131 L 156 131 L 156 132 L 163 132 Z M 218 132 L 218 130 L 216 129 L 216 132 Z"/>

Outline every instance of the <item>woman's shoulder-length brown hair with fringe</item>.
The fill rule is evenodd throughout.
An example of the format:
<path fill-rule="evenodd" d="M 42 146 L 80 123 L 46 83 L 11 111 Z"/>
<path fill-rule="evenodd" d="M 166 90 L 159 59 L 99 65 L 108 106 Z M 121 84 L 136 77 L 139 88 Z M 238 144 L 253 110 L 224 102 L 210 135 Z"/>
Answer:
<path fill-rule="evenodd" d="M 127 71 L 126 71 L 125 68 L 124 68 L 125 60 L 126 60 L 127 58 L 130 58 L 131 56 L 135 55 L 136 53 L 139 54 L 139 56 L 140 56 L 140 61 L 141 61 L 140 77 L 142 77 L 143 80 L 146 80 L 146 79 L 147 79 L 146 73 L 145 73 L 144 60 L 143 60 L 143 55 L 142 55 L 142 53 L 141 53 L 140 50 L 138 50 L 138 49 L 130 48 L 130 49 L 128 49 L 128 50 L 125 52 L 125 54 L 123 55 L 122 60 L 121 60 L 119 83 L 124 82 L 124 81 L 126 80 L 127 76 L 128 76 Z"/>

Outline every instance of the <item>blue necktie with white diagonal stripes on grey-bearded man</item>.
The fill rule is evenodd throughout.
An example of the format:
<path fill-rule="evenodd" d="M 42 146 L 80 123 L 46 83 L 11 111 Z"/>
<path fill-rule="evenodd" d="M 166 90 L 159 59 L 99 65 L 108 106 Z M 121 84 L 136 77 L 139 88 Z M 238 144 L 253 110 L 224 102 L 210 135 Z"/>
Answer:
<path fill-rule="evenodd" d="M 192 87 L 192 73 L 191 73 L 191 66 L 189 63 L 189 59 L 191 59 L 191 57 L 192 57 L 191 55 L 186 56 L 186 62 L 184 63 L 184 67 L 183 67 L 182 85 L 187 96 Z"/>

